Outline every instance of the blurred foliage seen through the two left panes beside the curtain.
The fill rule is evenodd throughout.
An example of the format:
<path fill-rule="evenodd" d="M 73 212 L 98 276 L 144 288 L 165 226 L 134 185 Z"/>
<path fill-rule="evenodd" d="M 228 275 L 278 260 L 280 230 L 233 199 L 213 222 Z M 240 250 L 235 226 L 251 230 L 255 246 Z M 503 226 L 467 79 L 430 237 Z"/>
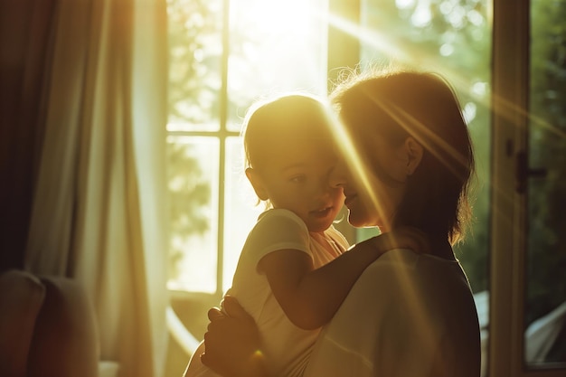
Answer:
<path fill-rule="evenodd" d="M 211 12 L 207 0 L 168 0 L 169 20 L 169 127 L 203 128 L 217 118 L 218 87 L 215 80 L 222 51 L 211 50 L 209 39 L 222 30 L 218 12 Z M 203 208 L 210 201 L 210 184 L 203 179 L 202 169 L 194 158 L 191 146 L 169 140 L 167 178 L 170 193 L 171 241 L 169 250 L 170 278 L 180 271 L 183 242 L 193 234 L 210 228 L 210 219 Z"/>

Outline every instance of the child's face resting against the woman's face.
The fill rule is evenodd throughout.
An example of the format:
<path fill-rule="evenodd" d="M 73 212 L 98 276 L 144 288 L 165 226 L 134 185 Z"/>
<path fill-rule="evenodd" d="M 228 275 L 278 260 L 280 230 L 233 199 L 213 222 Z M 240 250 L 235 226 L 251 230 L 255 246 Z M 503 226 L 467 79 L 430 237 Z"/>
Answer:
<path fill-rule="evenodd" d="M 335 150 L 321 141 L 281 140 L 266 150 L 260 177 L 274 208 L 295 212 L 309 231 L 325 231 L 344 204 L 341 187 L 331 187 Z"/>

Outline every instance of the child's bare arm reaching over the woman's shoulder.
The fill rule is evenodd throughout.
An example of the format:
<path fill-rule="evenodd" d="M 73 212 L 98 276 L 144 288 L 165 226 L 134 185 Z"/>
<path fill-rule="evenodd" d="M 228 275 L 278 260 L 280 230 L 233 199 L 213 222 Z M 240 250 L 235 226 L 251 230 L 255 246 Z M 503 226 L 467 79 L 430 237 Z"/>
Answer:
<path fill-rule="evenodd" d="M 354 245 L 319 269 L 299 250 L 273 251 L 259 261 L 259 267 L 289 320 L 315 329 L 335 315 L 366 267 L 385 251 L 399 248 L 422 252 L 427 241 L 421 231 L 400 228 Z"/>

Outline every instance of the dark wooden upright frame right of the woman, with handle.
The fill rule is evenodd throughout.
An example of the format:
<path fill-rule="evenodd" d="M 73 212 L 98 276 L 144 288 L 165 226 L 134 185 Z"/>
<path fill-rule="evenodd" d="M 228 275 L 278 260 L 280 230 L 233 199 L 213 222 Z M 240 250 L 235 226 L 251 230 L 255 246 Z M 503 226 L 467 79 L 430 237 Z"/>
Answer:
<path fill-rule="evenodd" d="M 564 363 L 533 367 L 524 362 L 528 210 L 527 193 L 517 190 L 521 182 L 516 172 L 524 168 L 520 156 L 528 150 L 531 2 L 494 0 L 493 15 L 488 375 L 559 377 Z"/>

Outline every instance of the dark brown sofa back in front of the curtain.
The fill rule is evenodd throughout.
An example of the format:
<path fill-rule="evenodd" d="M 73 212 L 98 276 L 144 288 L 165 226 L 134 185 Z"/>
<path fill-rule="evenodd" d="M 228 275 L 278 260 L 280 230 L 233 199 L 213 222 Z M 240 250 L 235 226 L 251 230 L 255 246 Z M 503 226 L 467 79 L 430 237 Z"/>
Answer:
<path fill-rule="evenodd" d="M 0 376 L 99 377 L 117 366 L 99 361 L 93 306 L 77 280 L 0 273 Z"/>

